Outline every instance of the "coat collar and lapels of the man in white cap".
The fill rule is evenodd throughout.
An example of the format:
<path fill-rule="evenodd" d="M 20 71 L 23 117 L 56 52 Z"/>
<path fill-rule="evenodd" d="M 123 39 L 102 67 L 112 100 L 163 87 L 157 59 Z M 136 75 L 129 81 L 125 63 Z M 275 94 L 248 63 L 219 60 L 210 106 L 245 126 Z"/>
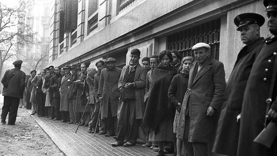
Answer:
<path fill-rule="evenodd" d="M 211 58 L 208 58 L 202 65 L 202 67 L 200 68 L 200 70 L 197 72 L 195 78 L 193 78 L 193 75 L 196 71 L 196 68 L 197 68 L 197 64 L 198 62 L 195 61 L 194 63 L 195 65 L 193 66 L 193 73 L 190 74 L 191 75 L 191 81 L 192 81 L 192 85 L 201 77 L 203 76 L 211 67 L 212 67 L 212 64 L 213 64 L 213 61 Z M 191 86 L 192 86 L 191 85 Z"/>

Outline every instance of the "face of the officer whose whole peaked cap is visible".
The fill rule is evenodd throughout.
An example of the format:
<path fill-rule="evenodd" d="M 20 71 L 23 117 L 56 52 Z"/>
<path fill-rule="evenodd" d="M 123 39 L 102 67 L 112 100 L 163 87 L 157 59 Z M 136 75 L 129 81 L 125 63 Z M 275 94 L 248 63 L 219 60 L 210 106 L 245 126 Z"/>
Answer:
<path fill-rule="evenodd" d="M 247 24 L 240 27 L 240 38 L 243 44 L 249 44 L 254 42 L 257 39 L 257 35 L 260 30 L 257 28 L 256 24 Z"/>

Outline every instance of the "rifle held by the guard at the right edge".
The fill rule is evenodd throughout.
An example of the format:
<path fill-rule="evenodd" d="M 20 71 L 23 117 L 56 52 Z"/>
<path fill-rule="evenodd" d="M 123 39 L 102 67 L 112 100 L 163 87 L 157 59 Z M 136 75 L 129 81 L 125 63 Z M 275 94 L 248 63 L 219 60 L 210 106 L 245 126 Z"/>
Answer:
<path fill-rule="evenodd" d="M 269 88 L 269 95 L 267 99 L 267 110 L 265 115 L 264 129 L 259 133 L 259 135 L 254 139 L 254 142 L 262 144 L 267 148 L 271 148 L 276 136 L 277 136 L 277 124 L 267 118 L 268 111 L 271 106 L 272 92 L 275 84 L 275 78 L 277 73 L 277 57 L 275 58 L 272 79 Z"/>

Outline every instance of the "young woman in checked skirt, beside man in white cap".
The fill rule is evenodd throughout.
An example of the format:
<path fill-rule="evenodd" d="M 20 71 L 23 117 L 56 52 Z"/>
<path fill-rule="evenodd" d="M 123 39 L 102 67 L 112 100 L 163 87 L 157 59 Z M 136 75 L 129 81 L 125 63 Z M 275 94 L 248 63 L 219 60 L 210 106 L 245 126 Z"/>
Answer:
<path fill-rule="evenodd" d="M 179 122 L 181 106 L 187 90 L 190 68 L 193 65 L 192 62 L 192 57 L 190 56 L 183 58 L 182 66 L 179 69 L 180 74 L 177 74 L 173 77 L 168 90 L 168 98 L 170 99 L 171 103 L 176 106 L 176 113 L 173 123 L 173 133 L 175 134 L 174 151 L 177 151 L 177 156 L 181 156 L 183 145 L 183 140 L 176 138 L 177 125 Z"/>

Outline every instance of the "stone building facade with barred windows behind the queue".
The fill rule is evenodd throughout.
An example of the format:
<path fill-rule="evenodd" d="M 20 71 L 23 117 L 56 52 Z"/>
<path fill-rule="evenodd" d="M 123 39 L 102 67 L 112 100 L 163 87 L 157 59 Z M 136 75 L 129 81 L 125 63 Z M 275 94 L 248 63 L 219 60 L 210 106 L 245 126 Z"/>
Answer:
<path fill-rule="evenodd" d="M 238 14 L 263 15 L 263 0 L 52 0 L 49 65 L 86 63 L 114 57 L 122 68 L 130 51 L 141 58 L 162 50 L 193 56 L 198 42 L 211 46 L 229 78 L 244 46 L 233 22 Z M 269 34 L 266 24 L 261 36 Z"/>

